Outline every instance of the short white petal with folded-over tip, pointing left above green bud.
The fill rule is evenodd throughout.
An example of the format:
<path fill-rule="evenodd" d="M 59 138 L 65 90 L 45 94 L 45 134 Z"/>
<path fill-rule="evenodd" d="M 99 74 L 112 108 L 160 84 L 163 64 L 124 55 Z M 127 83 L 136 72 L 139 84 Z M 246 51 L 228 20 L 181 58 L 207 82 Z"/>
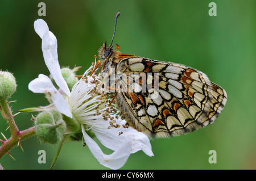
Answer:
<path fill-rule="evenodd" d="M 53 83 L 49 77 L 44 74 L 39 74 L 38 78 L 35 78 L 28 84 L 28 89 L 34 93 L 49 93 L 51 99 L 58 111 L 68 117 L 72 117 L 72 112 L 69 110 L 67 101 L 63 95 L 53 86 Z"/>

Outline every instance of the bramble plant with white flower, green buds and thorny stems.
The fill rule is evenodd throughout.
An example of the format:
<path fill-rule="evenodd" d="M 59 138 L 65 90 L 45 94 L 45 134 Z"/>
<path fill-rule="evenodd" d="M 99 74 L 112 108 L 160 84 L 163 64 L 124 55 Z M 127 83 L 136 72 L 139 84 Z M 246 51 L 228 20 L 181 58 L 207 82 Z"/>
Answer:
<path fill-rule="evenodd" d="M 4 140 L 0 140 L 0 159 L 15 146 L 22 148 L 20 142 L 35 135 L 43 143 L 59 144 L 51 169 L 65 142 L 82 139 L 98 162 L 110 169 L 119 169 L 131 153 L 139 150 L 152 156 L 148 137 L 128 127 L 115 105 L 110 104 L 112 98 L 102 92 L 96 64 L 90 66 L 80 79 L 76 72 L 81 67 L 60 69 L 56 37 L 42 19 L 35 21 L 34 28 L 42 39 L 44 61 L 50 75 L 39 74 L 29 83 L 28 89 L 45 94 L 49 105 L 18 110 L 19 113 L 36 112 L 36 116 L 32 117 L 34 126 L 19 131 L 14 120 L 16 114 L 12 114 L 9 106 L 10 98 L 16 91 L 16 81 L 10 72 L 0 71 L 0 110 L 11 132 L 10 138 L 2 134 Z M 93 138 L 112 149 L 113 153 L 104 154 Z M 0 169 L 3 169 L 1 164 Z"/>

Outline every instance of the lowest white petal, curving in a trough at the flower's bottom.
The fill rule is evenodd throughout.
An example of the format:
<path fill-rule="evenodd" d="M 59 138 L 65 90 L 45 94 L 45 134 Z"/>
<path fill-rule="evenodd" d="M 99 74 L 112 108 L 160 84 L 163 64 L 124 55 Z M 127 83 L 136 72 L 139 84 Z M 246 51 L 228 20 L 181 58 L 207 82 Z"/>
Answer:
<path fill-rule="evenodd" d="M 84 135 L 86 145 L 88 145 L 88 148 L 101 165 L 109 167 L 110 169 L 119 169 L 125 165 L 131 153 L 131 141 L 123 142 L 114 153 L 106 155 L 102 152 L 100 146 L 85 132 L 83 126 L 82 134 Z"/>

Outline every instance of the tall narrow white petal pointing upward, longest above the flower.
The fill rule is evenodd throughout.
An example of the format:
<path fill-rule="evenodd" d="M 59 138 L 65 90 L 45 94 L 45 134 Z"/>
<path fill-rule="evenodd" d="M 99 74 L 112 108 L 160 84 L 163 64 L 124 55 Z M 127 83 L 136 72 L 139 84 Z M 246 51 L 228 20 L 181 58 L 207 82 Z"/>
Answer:
<path fill-rule="evenodd" d="M 38 19 L 34 23 L 34 28 L 36 33 L 42 38 L 42 50 L 44 61 L 49 69 L 53 79 L 55 80 L 57 86 L 70 96 L 71 92 L 68 89 L 67 82 L 65 82 L 63 76 L 61 75 L 60 64 L 58 61 L 57 54 L 57 39 L 53 35 L 49 28 L 42 19 Z"/>

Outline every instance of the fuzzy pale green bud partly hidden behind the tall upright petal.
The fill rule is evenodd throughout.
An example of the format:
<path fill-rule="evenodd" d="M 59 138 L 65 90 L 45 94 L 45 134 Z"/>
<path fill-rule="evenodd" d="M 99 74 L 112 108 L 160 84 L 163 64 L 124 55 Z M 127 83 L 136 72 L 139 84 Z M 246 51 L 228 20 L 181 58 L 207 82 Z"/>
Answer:
<path fill-rule="evenodd" d="M 75 85 L 75 83 L 77 81 L 79 81 L 79 79 L 76 77 L 76 74 L 74 73 L 74 71 L 72 71 L 69 68 L 62 68 L 61 74 L 62 74 L 64 80 L 67 82 L 69 90 L 71 91 L 72 87 Z M 52 77 L 51 77 L 51 80 L 52 80 L 53 84 L 56 86 L 56 83 Z"/>

